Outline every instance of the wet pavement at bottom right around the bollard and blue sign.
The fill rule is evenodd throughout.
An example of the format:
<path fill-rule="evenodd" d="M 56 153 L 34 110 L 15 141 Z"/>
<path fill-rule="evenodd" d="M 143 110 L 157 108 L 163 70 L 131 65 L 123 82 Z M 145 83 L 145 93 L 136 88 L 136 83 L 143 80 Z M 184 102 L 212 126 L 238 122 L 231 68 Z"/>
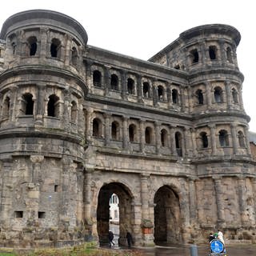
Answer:
<path fill-rule="evenodd" d="M 140 249 L 144 256 L 190 256 L 190 246 Z M 208 256 L 209 247 L 198 246 L 198 256 Z M 227 256 L 256 256 L 256 245 L 226 246 Z"/>

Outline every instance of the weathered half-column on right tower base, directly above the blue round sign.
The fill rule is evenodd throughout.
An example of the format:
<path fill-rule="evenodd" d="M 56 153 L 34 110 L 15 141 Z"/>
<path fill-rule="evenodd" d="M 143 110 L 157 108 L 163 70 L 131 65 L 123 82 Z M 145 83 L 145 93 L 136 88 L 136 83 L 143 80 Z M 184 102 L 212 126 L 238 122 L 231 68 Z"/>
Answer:
<path fill-rule="evenodd" d="M 222 202 L 222 198 L 223 198 L 222 178 L 213 177 L 213 179 L 214 179 L 214 189 L 216 194 L 218 225 L 223 225 L 225 224 L 225 214 L 224 214 L 224 206 Z"/>

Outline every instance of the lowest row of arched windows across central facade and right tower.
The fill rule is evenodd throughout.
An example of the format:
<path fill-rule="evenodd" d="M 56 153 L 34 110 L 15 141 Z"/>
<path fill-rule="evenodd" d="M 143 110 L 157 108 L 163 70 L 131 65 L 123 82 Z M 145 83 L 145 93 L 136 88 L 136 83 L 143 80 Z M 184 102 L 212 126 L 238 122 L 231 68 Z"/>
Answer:
<path fill-rule="evenodd" d="M 100 118 L 94 118 L 92 124 L 92 135 L 94 138 L 102 138 L 103 136 L 103 125 L 102 120 Z M 128 126 L 128 138 L 129 142 L 140 142 L 139 138 L 139 129 L 136 124 L 131 123 Z M 151 126 L 146 126 L 144 130 L 144 139 L 146 144 L 154 144 L 155 143 L 155 130 Z M 111 138 L 112 140 L 121 140 L 122 132 L 121 126 L 117 121 L 111 123 Z M 210 147 L 209 142 L 210 134 L 207 134 L 205 131 L 202 131 L 197 138 L 198 141 L 198 149 L 207 149 Z M 184 134 L 182 131 L 176 131 L 174 134 L 175 147 L 178 155 L 182 156 L 182 147 L 184 145 L 183 142 Z M 242 130 L 238 130 L 237 132 L 238 145 L 241 148 L 246 147 L 245 136 Z M 169 142 L 169 132 L 167 129 L 160 130 L 160 146 L 168 147 L 170 146 Z M 230 134 L 228 134 L 227 130 L 221 129 L 218 130 L 218 145 L 221 147 L 229 147 L 230 146 Z"/>

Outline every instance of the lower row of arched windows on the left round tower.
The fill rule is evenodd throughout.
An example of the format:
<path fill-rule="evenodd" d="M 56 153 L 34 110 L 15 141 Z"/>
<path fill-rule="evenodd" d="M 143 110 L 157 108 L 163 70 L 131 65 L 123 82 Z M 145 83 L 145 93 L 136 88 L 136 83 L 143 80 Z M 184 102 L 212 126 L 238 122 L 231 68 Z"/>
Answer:
<path fill-rule="evenodd" d="M 21 115 L 33 115 L 34 114 L 34 99 L 30 93 L 22 94 L 20 99 L 20 114 Z M 60 117 L 60 104 L 59 98 L 56 94 L 51 94 L 48 97 L 47 102 L 47 116 L 59 118 Z M 2 101 L 2 118 L 10 117 L 10 97 L 6 96 Z M 70 108 L 70 122 L 77 122 L 78 118 L 78 106 L 77 102 L 71 102 Z"/>

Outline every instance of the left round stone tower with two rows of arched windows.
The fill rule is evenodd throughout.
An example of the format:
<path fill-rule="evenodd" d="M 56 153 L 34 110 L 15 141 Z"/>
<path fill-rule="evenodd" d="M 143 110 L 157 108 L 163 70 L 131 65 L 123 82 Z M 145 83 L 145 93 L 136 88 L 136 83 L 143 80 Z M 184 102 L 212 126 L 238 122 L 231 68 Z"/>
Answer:
<path fill-rule="evenodd" d="M 7 19 L 0 39 L 6 42 L 0 74 L 0 159 L 6 174 L 0 226 L 2 234 L 13 234 L 5 246 L 76 240 L 83 220 L 77 204 L 86 30 L 64 14 L 29 10 Z"/>

